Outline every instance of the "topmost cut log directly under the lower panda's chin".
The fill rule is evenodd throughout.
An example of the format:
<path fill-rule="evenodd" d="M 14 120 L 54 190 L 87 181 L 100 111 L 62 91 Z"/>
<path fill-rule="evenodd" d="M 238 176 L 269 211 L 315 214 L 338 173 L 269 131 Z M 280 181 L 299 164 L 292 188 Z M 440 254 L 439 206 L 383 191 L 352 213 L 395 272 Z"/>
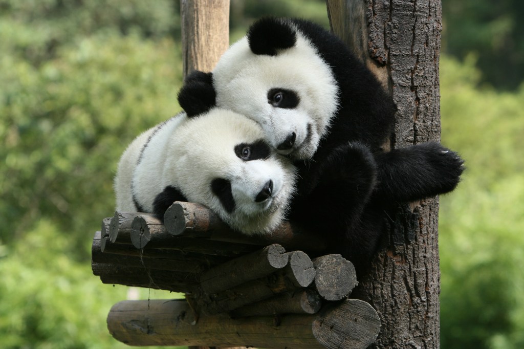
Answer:
<path fill-rule="evenodd" d="M 320 234 L 312 234 L 289 222 L 282 223 L 271 234 L 245 235 L 232 230 L 205 206 L 190 202 L 174 202 L 164 215 L 166 230 L 174 236 L 209 238 L 243 244 L 267 246 L 273 243 L 288 250 L 320 253 L 326 248 Z"/>

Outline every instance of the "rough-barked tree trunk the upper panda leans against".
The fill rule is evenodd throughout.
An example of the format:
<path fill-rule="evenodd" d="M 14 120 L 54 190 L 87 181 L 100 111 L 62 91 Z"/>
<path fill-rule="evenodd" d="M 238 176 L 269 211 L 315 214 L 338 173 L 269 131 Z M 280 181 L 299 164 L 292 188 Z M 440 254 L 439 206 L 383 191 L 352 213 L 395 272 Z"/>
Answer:
<path fill-rule="evenodd" d="M 332 29 L 366 61 L 397 104 L 389 146 L 440 140 L 441 1 L 326 2 Z M 358 297 L 372 304 L 381 320 L 372 347 L 439 347 L 438 209 L 438 199 L 400 208 L 370 272 L 359 280 Z"/>

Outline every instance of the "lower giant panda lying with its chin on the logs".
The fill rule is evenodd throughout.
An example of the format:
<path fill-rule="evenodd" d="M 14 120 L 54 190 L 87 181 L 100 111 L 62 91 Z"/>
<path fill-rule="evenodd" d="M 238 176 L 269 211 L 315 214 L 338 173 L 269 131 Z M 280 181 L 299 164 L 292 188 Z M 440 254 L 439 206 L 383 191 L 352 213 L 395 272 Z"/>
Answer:
<path fill-rule="evenodd" d="M 152 127 L 127 147 L 114 182 L 116 210 L 163 220 L 173 201 L 189 201 L 239 232 L 274 230 L 294 192 L 292 163 L 245 116 L 221 108 L 190 115 Z"/>

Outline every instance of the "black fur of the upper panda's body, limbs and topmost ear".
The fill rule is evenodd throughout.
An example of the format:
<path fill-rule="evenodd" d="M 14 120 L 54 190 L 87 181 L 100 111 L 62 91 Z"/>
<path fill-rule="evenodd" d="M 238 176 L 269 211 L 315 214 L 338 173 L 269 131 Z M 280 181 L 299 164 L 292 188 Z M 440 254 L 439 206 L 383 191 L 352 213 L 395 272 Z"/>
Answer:
<path fill-rule="evenodd" d="M 438 143 L 384 152 L 381 145 L 392 135 L 396 106 L 373 73 L 322 27 L 301 19 L 261 19 L 248 31 L 250 48 L 275 56 L 279 49 L 291 47 L 296 42 L 291 24 L 331 68 L 339 105 L 313 158 L 294 163 L 299 180 L 289 217 L 330 234 L 331 252 L 350 259 L 360 276 L 399 204 L 452 191 L 460 181 L 463 160 Z M 276 32 L 294 39 L 282 45 L 275 40 Z M 319 219 L 322 216 L 330 219 Z"/>

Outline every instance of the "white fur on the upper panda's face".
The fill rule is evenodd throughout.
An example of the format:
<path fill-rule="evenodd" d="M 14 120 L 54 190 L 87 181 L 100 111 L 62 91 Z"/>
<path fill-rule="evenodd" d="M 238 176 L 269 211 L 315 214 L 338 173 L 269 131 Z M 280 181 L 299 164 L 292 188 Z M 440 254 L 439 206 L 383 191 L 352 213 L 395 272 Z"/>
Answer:
<path fill-rule="evenodd" d="M 297 29 L 296 29 L 297 30 Z M 311 158 L 337 108 L 337 84 L 330 67 L 316 48 L 297 30 L 296 45 L 277 56 L 254 54 L 247 37 L 234 43 L 213 70 L 216 104 L 253 118 L 275 148 L 292 132 L 297 139 L 292 158 Z M 295 91 L 300 99 L 293 109 L 268 103 L 272 88 Z M 307 139 L 308 124 L 311 135 Z"/>

